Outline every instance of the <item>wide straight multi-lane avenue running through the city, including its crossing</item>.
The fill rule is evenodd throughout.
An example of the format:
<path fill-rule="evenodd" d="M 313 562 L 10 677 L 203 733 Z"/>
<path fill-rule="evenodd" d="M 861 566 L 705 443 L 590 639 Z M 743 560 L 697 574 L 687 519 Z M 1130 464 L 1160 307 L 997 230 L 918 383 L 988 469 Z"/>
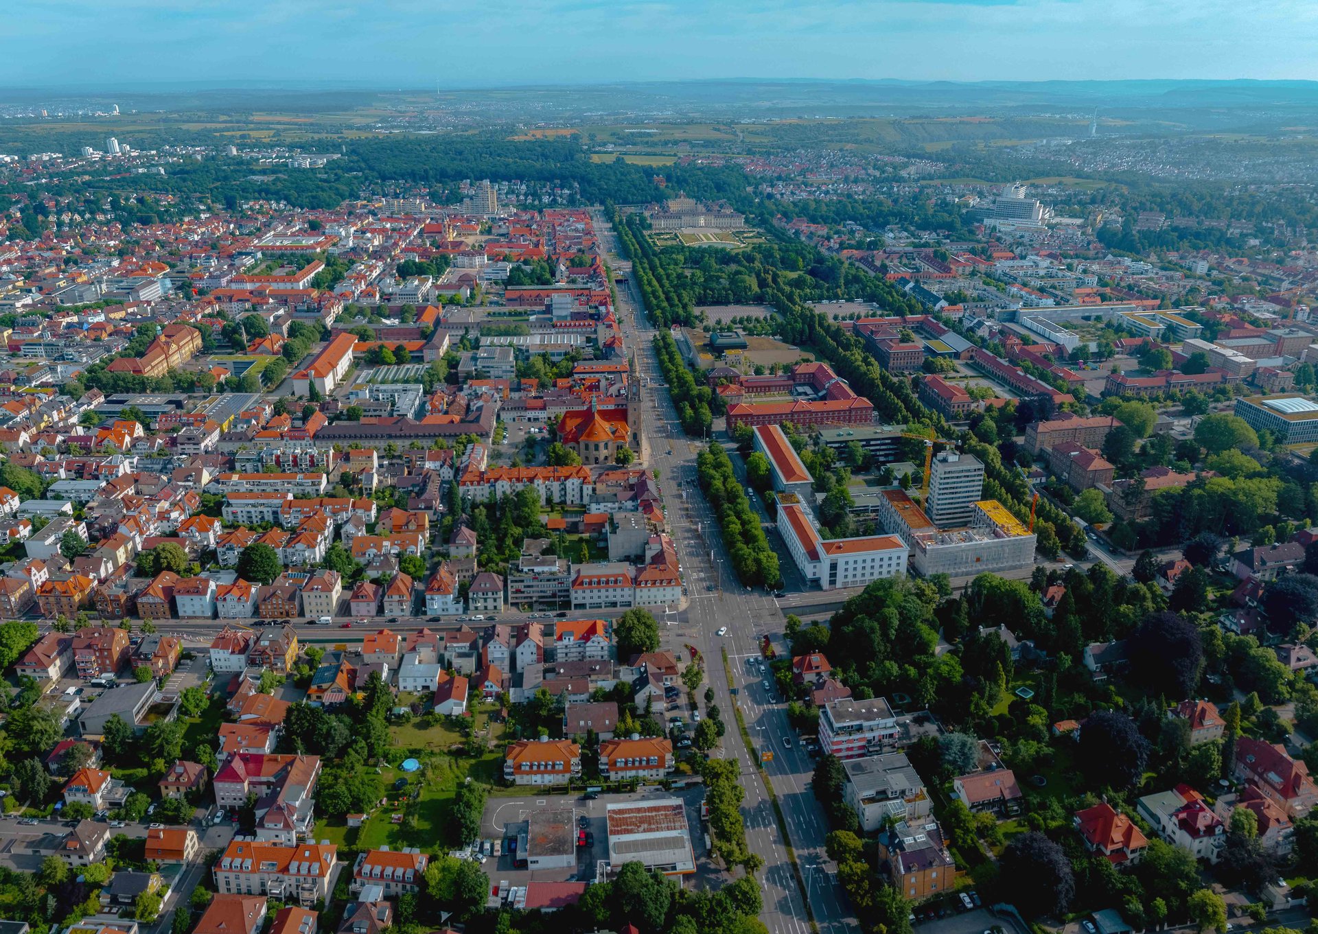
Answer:
<path fill-rule="evenodd" d="M 594 225 L 609 253 L 609 263 L 614 269 L 627 267 L 618 254 L 617 234 L 602 213 L 594 215 Z M 629 275 L 627 285 L 618 288 L 617 317 L 627 346 L 635 353 L 639 371 L 633 378 L 641 379 L 643 386 L 639 427 L 648 439 L 647 466 L 659 470 L 668 526 L 691 598 L 687 610 L 670 618 L 670 624 L 663 627 L 664 646 L 687 657 L 688 647 L 695 647 L 705 659 L 706 681 L 714 689 L 714 703 L 728 725 L 724 751 L 741 765 L 747 843 L 751 852 L 764 859 L 760 920 L 775 934 L 808 934 L 811 913 L 803 900 L 804 884 L 820 930 L 832 934 L 855 930 L 855 918 L 836 884 L 837 867 L 824 852 L 828 821 L 809 788 L 813 763 L 787 721 L 786 703 L 772 686 L 764 688 L 763 676 L 751 664 L 759 659 L 759 636 L 782 630 L 783 610 L 768 594 L 747 591 L 733 574 L 722 535 L 696 483 L 700 445 L 683 435 L 654 354 L 656 331 L 639 310 L 641 300 Z M 726 634 L 720 636 L 720 631 Z M 724 674 L 724 652 L 738 689 L 735 698 Z M 738 732 L 734 706 L 739 706 L 750 731 L 750 750 Z M 763 771 L 758 763 L 762 752 L 772 752 Z M 771 792 L 782 808 L 786 838 Z M 795 851 L 800 883 L 788 847 Z"/>

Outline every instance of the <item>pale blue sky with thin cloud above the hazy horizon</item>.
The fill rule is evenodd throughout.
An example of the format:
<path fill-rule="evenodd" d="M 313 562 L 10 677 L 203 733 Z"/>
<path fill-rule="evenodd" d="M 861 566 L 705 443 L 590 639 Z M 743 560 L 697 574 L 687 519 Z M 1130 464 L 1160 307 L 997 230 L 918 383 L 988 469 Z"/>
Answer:
<path fill-rule="evenodd" d="M 1318 78 L 1313 0 L 9 0 L 0 86 Z"/>

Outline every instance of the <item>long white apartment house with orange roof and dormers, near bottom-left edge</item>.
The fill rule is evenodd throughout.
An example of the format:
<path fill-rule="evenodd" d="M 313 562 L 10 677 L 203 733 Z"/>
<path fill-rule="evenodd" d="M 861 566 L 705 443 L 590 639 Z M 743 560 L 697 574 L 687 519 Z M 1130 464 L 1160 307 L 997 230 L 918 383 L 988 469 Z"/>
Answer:
<path fill-rule="evenodd" d="M 310 905 L 330 897 L 336 858 L 332 843 L 235 839 L 212 867 L 215 888 L 223 894 L 266 894 Z"/>

